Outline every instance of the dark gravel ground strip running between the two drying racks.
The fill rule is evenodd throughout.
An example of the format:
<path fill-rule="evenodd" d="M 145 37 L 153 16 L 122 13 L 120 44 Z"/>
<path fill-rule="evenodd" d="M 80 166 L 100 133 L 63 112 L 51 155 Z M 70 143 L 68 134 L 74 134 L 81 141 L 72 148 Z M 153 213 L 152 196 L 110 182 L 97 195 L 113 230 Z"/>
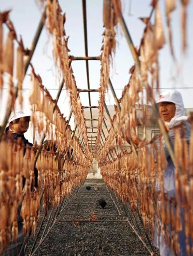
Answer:
<path fill-rule="evenodd" d="M 86 185 L 88 185 L 88 181 L 58 215 L 54 227 L 34 255 L 150 255 L 129 224 L 124 221 L 124 217 L 119 215 L 113 203 L 113 200 L 117 203 L 116 198 L 112 196 L 113 200 L 111 199 L 106 185 L 101 182 L 91 184 L 91 190 L 87 190 Z M 97 201 L 101 198 L 107 202 L 104 209 Z M 118 209 L 123 211 L 123 206 L 121 205 L 121 209 Z M 97 216 L 98 221 L 96 222 L 88 221 L 93 213 Z M 31 236 L 26 255 L 29 255 L 33 241 L 34 237 Z M 156 253 L 156 255 L 159 254 Z"/>

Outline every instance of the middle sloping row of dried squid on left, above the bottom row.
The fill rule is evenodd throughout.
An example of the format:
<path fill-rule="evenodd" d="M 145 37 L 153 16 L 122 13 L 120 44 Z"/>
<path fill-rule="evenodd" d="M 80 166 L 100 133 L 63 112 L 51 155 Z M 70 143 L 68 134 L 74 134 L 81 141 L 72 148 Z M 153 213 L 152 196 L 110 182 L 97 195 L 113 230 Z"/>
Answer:
<path fill-rule="evenodd" d="M 55 134 L 54 134 L 54 132 L 52 132 L 53 137 L 51 137 L 51 142 L 53 139 L 55 139 L 54 143 L 55 143 L 55 147 L 57 149 L 58 155 L 62 156 L 63 159 L 64 159 L 64 156 L 67 158 L 69 148 L 71 147 L 73 149 L 73 159 L 76 159 L 76 166 L 81 165 L 82 167 L 87 168 L 86 170 L 88 171 L 88 168 L 90 166 L 92 158 L 89 158 L 89 156 L 87 156 L 86 154 L 85 155 L 83 154 L 82 146 L 78 142 L 76 136 L 74 137 L 73 140 L 71 139 L 70 126 L 68 126 L 68 128 L 67 128 L 67 122 L 66 122 L 65 118 L 63 118 L 63 116 L 61 115 L 58 107 L 52 106 L 50 108 L 50 105 L 55 104 L 55 101 L 51 98 L 51 96 L 49 95 L 49 93 L 47 91 L 46 91 L 46 94 L 44 94 L 44 89 L 43 89 L 40 81 L 41 81 L 41 79 L 40 78 L 38 79 L 38 77 L 35 75 L 35 72 L 33 71 L 32 72 L 32 86 L 33 87 L 32 87 L 32 93 L 30 96 L 30 100 L 31 100 L 31 104 L 35 104 L 35 110 L 38 112 L 41 111 L 42 114 L 47 118 L 46 122 L 51 123 L 55 127 Z M 40 91 L 42 92 L 41 97 L 36 95 Z M 46 99 L 46 97 L 47 97 L 47 99 Z M 41 100 L 37 101 L 37 99 L 41 99 Z M 45 101 L 47 101 L 47 104 L 45 104 Z M 44 102 L 43 107 L 41 107 L 41 105 L 42 105 L 41 102 Z M 51 110 L 49 110 L 49 113 L 47 113 L 48 106 L 51 109 Z M 52 112 L 54 112 L 54 115 L 51 114 Z M 37 112 L 35 112 L 35 115 L 36 114 L 37 114 Z M 47 127 L 47 125 L 46 125 L 46 127 Z M 53 153 L 55 153 L 55 152 L 50 152 L 49 154 L 53 154 Z M 47 155 L 46 155 L 46 157 L 47 157 Z M 50 157 L 54 157 L 54 155 L 53 156 L 50 155 Z M 75 161 L 75 160 L 73 160 L 73 161 Z M 74 164 L 73 161 L 70 159 L 69 160 L 67 159 L 66 162 L 68 163 L 68 167 L 72 168 L 72 164 Z M 64 169 L 66 170 L 65 177 L 67 175 L 67 172 L 69 171 L 69 169 L 66 168 L 66 162 L 64 164 L 64 166 L 65 166 Z M 60 164 L 60 166 L 61 166 L 61 164 Z M 63 166 L 61 166 L 60 171 L 62 171 L 62 168 L 63 168 Z M 57 167 L 56 167 L 56 169 L 57 169 Z M 85 171 L 83 173 L 85 173 Z M 70 176 L 70 179 L 71 179 L 71 176 Z M 65 178 L 65 181 L 66 181 L 66 178 Z"/>

